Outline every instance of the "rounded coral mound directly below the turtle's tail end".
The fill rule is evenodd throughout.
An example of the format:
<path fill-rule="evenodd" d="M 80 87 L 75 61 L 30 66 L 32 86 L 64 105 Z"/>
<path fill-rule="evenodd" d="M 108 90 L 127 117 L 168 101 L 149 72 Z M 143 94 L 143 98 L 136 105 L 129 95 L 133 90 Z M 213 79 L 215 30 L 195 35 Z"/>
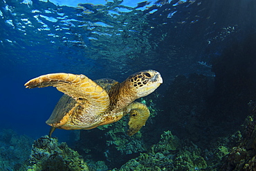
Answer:
<path fill-rule="evenodd" d="M 88 166 L 77 152 L 71 150 L 66 143 L 58 143 L 57 138 L 42 136 L 33 143 L 29 159 L 28 171 L 89 170 Z"/>

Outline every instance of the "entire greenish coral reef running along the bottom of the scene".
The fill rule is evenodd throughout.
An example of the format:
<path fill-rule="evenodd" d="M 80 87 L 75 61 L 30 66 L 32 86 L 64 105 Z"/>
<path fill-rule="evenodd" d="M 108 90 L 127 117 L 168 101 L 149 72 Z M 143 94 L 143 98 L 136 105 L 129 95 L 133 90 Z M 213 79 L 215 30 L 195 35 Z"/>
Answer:
<path fill-rule="evenodd" d="M 98 152 L 95 152 L 91 147 L 84 147 L 84 159 L 82 156 L 71 150 L 66 143 L 58 143 L 57 138 L 48 138 L 48 136 L 42 136 L 33 143 L 32 152 L 30 155 L 29 163 L 21 161 L 16 163 L 15 166 L 9 168 L 9 170 L 91 170 L 91 171 L 127 171 L 127 170 L 256 170 L 256 103 L 250 102 L 250 116 L 246 118 L 244 122 L 243 130 L 237 131 L 229 137 L 218 138 L 213 143 L 209 143 L 208 149 L 197 146 L 189 139 L 179 139 L 174 136 L 171 131 L 166 131 L 161 134 L 160 141 L 147 146 L 147 143 L 143 141 L 143 134 L 140 132 L 134 139 L 125 136 L 123 125 L 125 121 L 120 122 L 123 125 L 109 125 L 108 127 L 102 127 L 102 130 L 96 134 L 99 136 L 100 132 L 104 132 L 103 147 L 97 146 L 94 141 L 92 145 L 95 148 L 99 147 Z M 96 129 L 97 130 L 97 129 Z M 88 132 L 88 131 L 85 131 Z M 16 137 L 15 133 L 8 130 L 6 134 L 1 133 L 1 143 L 3 141 L 10 142 L 14 145 L 19 144 L 20 147 L 30 146 L 29 143 L 23 143 L 24 138 Z M 88 138 L 88 137 L 87 137 Z M 28 142 L 28 141 L 27 141 Z M 15 150 L 16 147 L 10 146 L 1 147 L 1 157 L 6 149 Z M 24 146 L 25 145 L 25 146 Z M 91 145 L 91 146 L 92 146 Z M 232 146 L 233 145 L 233 146 Z M 86 145 L 87 146 L 87 145 Z M 131 150 L 134 147 L 135 150 L 140 149 L 141 153 L 138 154 L 135 150 Z M 26 148 L 24 148 L 26 149 Z M 131 150 L 131 151 L 129 151 Z M 28 155 L 28 147 L 26 151 L 18 150 Z M 102 160 L 95 158 L 91 153 L 96 153 L 104 156 Z M 130 155 L 132 156 L 129 156 Z M 138 156 L 134 155 L 138 154 Z M 122 161 L 118 166 L 116 161 L 113 161 L 114 157 L 122 156 L 127 160 Z M 7 155 L 6 155 L 7 156 Z M 15 154 L 12 154 L 14 157 Z M 17 157 L 17 155 L 16 155 Z M 84 162 L 86 160 L 88 165 Z M 109 163 L 113 162 L 113 165 Z M 27 166 L 28 165 L 28 166 Z M 1 161 L 1 167 L 6 169 L 6 165 L 3 166 Z"/>

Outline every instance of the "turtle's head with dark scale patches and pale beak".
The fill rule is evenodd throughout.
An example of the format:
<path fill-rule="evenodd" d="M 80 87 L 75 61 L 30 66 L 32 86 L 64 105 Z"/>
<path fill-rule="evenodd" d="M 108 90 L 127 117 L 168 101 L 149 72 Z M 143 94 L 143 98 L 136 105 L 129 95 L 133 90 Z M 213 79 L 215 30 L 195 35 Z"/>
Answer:
<path fill-rule="evenodd" d="M 163 79 L 154 70 L 145 70 L 130 75 L 126 80 L 129 82 L 130 88 L 134 91 L 136 98 L 142 98 L 152 93 L 160 84 L 163 83 Z"/>

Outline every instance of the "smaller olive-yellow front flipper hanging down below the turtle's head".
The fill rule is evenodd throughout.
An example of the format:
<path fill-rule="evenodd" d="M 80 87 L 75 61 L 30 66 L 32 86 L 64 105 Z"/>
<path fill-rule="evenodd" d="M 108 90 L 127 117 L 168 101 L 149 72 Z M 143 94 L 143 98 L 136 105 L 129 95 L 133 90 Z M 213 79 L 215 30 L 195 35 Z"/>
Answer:
<path fill-rule="evenodd" d="M 147 109 L 147 106 L 140 102 L 131 103 L 127 109 L 129 111 L 129 130 L 127 131 L 127 134 L 132 136 L 145 125 L 150 112 L 149 109 Z"/>

